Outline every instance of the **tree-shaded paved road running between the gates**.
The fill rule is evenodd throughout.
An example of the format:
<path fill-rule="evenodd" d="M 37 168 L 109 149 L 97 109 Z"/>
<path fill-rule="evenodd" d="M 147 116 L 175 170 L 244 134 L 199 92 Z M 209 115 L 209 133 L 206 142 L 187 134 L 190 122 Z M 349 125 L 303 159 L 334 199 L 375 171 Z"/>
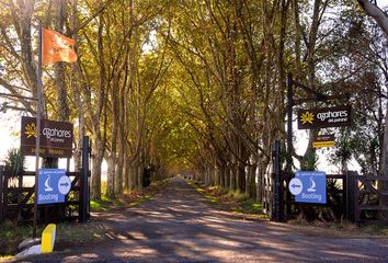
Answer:
<path fill-rule="evenodd" d="M 100 215 L 111 240 L 37 262 L 388 262 L 387 239 L 298 233 L 206 204 L 183 179 L 136 208 Z"/>

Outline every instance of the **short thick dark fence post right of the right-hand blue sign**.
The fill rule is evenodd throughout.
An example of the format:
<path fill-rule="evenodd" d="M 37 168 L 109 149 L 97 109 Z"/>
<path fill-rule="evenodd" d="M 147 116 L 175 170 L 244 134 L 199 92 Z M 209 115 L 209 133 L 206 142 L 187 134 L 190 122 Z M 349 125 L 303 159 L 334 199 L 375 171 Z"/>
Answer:
<path fill-rule="evenodd" d="M 347 203 L 347 220 L 352 222 L 358 221 L 358 173 L 349 171 L 346 174 L 346 203 Z"/>

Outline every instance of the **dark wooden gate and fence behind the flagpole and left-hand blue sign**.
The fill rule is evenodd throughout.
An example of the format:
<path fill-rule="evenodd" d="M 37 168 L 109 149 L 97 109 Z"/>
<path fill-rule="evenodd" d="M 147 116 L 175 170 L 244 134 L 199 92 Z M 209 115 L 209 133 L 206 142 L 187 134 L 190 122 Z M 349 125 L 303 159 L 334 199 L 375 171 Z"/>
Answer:
<path fill-rule="evenodd" d="M 89 198 L 89 158 L 91 146 L 89 137 L 83 137 L 82 169 L 78 172 L 66 172 L 70 178 L 71 188 L 65 203 L 38 205 L 38 221 L 53 222 L 78 219 L 85 222 L 90 217 Z M 10 178 L 4 167 L 0 167 L 0 222 L 12 220 L 31 222 L 34 216 L 35 185 L 24 187 L 25 178 L 35 178 L 35 172 L 23 171 L 15 178 Z M 10 183 L 12 182 L 13 185 Z M 16 184 L 16 185 L 15 185 Z"/>

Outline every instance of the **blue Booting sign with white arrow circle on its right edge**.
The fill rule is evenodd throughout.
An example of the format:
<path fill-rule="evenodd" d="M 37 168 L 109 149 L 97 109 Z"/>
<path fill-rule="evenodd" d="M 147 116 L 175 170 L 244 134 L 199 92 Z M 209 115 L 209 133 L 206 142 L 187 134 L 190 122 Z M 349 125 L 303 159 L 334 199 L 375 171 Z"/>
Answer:
<path fill-rule="evenodd" d="M 39 169 L 37 204 L 64 203 L 70 192 L 71 181 L 65 169 Z"/>

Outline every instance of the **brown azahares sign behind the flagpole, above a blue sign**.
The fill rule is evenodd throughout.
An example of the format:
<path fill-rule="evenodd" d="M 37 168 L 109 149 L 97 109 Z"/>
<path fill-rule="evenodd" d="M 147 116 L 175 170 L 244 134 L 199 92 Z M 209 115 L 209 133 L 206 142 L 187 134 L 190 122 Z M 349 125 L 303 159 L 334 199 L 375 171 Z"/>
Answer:
<path fill-rule="evenodd" d="M 70 158 L 72 155 L 72 124 L 42 119 L 41 157 Z M 21 150 L 35 156 L 36 118 L 22 117 Z"/>

